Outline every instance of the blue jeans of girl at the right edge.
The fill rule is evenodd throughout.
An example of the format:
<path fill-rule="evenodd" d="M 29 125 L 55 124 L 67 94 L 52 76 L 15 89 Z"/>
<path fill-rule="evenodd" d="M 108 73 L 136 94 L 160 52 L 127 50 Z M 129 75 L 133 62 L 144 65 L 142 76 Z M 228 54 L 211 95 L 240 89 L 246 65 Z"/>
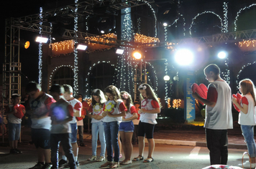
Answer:
<path fill-rule="evenodd" d="M 254 139 L 254 125 L 241 125 L 242 135 L 244 135 L 244 140 L 247 144 L 248 153 L 251 158 L 256 157 L 256 145 Z"/>

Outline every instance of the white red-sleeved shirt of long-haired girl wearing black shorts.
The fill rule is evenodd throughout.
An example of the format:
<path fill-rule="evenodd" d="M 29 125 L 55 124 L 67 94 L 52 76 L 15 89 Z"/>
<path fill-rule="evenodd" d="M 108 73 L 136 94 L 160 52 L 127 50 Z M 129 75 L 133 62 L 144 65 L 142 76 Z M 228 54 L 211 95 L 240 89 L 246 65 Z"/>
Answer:
<path fill-rule="evenodd" d="M 155 110 L 155 108 L 160 107 L 160 105 L 155 100 L 144 99 L 144 100 L 142 100 L 142 106 L 141 107 L 142 107 L 142 109 L 145 109 L 145 110 Z M 147 113 L 147 112 L 140 113 L 140 121 L 141 122 L 147 122 L 147 123 L 150 123 L 152 125 L 157 124 L 157 121 L 155 120 L 156 117 L 157 117 L 157 113 Z"/>

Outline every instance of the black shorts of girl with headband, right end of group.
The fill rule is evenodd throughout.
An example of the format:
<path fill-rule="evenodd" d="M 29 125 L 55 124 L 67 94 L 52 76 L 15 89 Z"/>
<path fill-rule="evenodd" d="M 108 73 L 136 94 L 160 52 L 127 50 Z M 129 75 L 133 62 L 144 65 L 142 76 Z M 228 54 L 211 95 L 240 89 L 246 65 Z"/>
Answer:
<path fill-rule="evenodd" d="M 152 125 L 147 122 L 141 122 L 139 123 L 139 129 L 138 129 L 138 136 L 146 137 L 148 139 L 153 138 L 155 125 Z"/>

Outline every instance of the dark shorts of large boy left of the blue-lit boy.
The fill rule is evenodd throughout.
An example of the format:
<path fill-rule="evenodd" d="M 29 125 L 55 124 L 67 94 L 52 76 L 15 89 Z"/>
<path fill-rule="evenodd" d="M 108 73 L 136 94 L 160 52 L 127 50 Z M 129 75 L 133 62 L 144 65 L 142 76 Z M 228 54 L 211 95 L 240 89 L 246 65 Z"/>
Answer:
<path fill-rule="evenodd" d="M 31 137 L 36 148 L 50 149 L 50 130 L 32 128 Z"/>

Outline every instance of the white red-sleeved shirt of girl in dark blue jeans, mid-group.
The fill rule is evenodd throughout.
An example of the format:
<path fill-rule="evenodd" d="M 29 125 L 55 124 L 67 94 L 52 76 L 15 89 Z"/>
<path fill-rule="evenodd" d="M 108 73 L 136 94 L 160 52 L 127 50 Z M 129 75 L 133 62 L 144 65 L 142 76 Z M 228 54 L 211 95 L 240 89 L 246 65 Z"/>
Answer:
<path fill-rule="evenodd" d="M 116 107 L 114 105 L 116 105 Z M 127 111 L 127 108 L 125 107 L 123 100 L 117 100 L 116 103 L 114 102 L 114 100 L 108 100 L 104 103 L 103 111 L 110 112 L 112 115 L 118 115 L 122 111 Z M 106 115 L 102 121 L 103 122 L 117 121 L 120 123 L 122 122 L 122 117 L 109 117 L 108 115 Z"/>

